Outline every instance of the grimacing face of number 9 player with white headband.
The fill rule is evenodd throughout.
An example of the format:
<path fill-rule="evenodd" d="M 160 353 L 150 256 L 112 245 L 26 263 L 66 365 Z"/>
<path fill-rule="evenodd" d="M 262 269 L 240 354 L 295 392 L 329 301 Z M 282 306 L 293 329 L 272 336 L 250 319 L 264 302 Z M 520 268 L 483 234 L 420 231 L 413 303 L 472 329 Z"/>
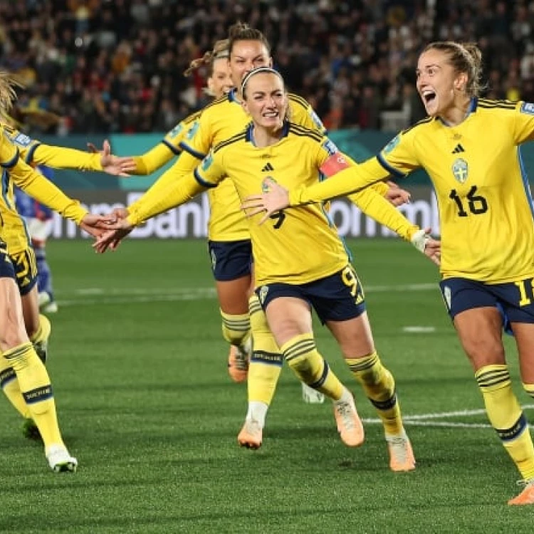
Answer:
<path fill-rule="evenodd" d="M 283 81 L 274 73 L 254 74 L 246 83 L 243 107 L 254 125 L 278 130 L 288 111 Z"/>

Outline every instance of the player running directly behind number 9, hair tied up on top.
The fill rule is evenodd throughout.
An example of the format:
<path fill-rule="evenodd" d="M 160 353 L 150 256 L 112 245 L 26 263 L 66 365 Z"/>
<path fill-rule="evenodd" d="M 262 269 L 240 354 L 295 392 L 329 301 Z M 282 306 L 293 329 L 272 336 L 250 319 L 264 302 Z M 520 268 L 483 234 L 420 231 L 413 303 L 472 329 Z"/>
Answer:
<path fill-rule="evenodd" d="M 172 173 L 164 174 L 158 182 L 132 207 L 142 206 L 159 194 L 179 177 L 189 176 L 197 167 L 199 159 L 206 156 L 217 143 L 229 139 L 243 130 L 249 117 L 241 108 L 241 81 L 253 68 L 271 67 L 270 46 L 261 31 L 237 23 L 229 30 L 229 68 L 236 88 L 224 98 L 202 110 L 180 147 L 184 150 Z M 311 106 L 297 95 L 289 95 L 291 120 L 295 124 L 323 133 L 324 127 Z M 266 161 L 261 167 L 268 176 L 271 164 Z M 401 189 L 388 190 L 384 184 L 377 186 L 382 194 L 389 194 L 392 202 L 402 203 L 409 198 Z M 281 355 L 268 332 L 266 320 L 257 298 L 252 298 L 249 320 L 248 297 L 252 281 L 251 238 L 248 224 L 240 209 L 241 201 L 231 180 L 223 182 L 216 190 L 209 191 L 209 253 L 216 283 L 222 317 L 222 330 L 227 340 L 237 350 L 231 351 L 229 372 L 236 382 L 247 377 L 250 352 L 249 331 L 256 332 L 251 375 L 248 380 L 249 401 L 269 404 L 274 394 L 281 370 Z M 307 389 L 307 388 L 305 388 Z"/>

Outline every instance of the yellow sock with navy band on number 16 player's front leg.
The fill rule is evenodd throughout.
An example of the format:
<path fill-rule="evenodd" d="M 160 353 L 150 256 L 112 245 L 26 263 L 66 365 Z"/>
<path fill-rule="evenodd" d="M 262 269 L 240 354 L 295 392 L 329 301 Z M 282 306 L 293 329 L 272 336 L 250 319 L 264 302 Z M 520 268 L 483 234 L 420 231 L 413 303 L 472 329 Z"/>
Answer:
<path fill-rule="evenodd" d="M 512 391 L 506 365 L 485 365 L 476 374 L 491 426 L 525 480 L 534 478 L 534 446 L 525 414 Z"/>

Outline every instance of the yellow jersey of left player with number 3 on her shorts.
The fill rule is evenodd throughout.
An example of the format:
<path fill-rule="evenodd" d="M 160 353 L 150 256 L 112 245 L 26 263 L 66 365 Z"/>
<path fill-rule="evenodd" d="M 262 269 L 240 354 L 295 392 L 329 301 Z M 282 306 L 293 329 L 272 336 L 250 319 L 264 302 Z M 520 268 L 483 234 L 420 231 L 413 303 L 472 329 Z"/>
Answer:
<path fill-rule="evenodd" d="M 5 150 L 12 150 L 28 164 L 44 164 L 55 168 L 76 168 L 101 171 L 100 154 L 90 154 L 63 147 L 42 145 L 8 125 L 0 125 Z M 11 147 L 11 148 L 9 148 Z M 37 150 L 38 149 L 38 150 Z M 3 160 L 4 161 L 4 160 Z M 9 167 L 9 166 L 8 166 Z M 2 175 L 2 224 L 1 234 L 9 247 L 9 253 L 17 253 L 30 246 L 30 239 L 24 219 L 15 208 L 14 181 L 9 173 Z"/>

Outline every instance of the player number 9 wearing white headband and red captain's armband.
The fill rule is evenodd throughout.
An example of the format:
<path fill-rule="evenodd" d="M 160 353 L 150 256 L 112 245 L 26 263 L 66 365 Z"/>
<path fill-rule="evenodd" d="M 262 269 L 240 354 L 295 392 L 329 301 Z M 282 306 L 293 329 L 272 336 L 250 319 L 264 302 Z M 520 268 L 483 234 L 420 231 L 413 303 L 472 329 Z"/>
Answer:
<path fill-rule="evenodd" d="M 183 204 L 195 194 L 226 180 L 244 198 L 257 187 L 311 184 L 320 173 L 332 174 L 348 163 L 328 137 L 287 119 L 288 95 L 281 75 L 268 67 L 249 72 L 242 83 L 244 110 L 253 122 L 245 130 L 217 145 L 194 174 L 169 185 L 159 200 L 130 207 L 130 216 L 117 228 L 132 226 L 155 214 Z M 299 157 L 295 158 L 295 154 Z M 270 165 L 268 174 L 262 168 Z M 424 251 L 428 237 L 394 209 L 375 190 L 357 195 L 367 214 L 387 224 Z M 268 326 L 288 365 L 308 386 L 333 399 L 337 429 L 348 446 L 360 446 L 364 431 L 352 394 L 329 370 L 315 347 L 311 305 L 339 343 L 353 375 L 384 424 L 393 471 L 415 468 L 412 446 L 402 426 L 394 379 L 375 351 L 365 312 L 363 290 L 350 265 L 347 251 L 324 207 L 315 204 L 273 214 L 271 224 L 250 226 L 255 264 L 256 293 Z M 118 235 L 120 236 L 120 234 Z M 115 238 L 118 237 L 115 235 Z M 98 241 L 99 245 L 109 239 Z M 429 245 L 434 246 L 432 241 Z M 431 247 L 426 250 L 431 254 Z M 267 407 L 265 407 L 266 411 Z M 244 430 L 260 434 L 249 424 Z M 257 447 L 256 447 L 257 448 Z"/>

